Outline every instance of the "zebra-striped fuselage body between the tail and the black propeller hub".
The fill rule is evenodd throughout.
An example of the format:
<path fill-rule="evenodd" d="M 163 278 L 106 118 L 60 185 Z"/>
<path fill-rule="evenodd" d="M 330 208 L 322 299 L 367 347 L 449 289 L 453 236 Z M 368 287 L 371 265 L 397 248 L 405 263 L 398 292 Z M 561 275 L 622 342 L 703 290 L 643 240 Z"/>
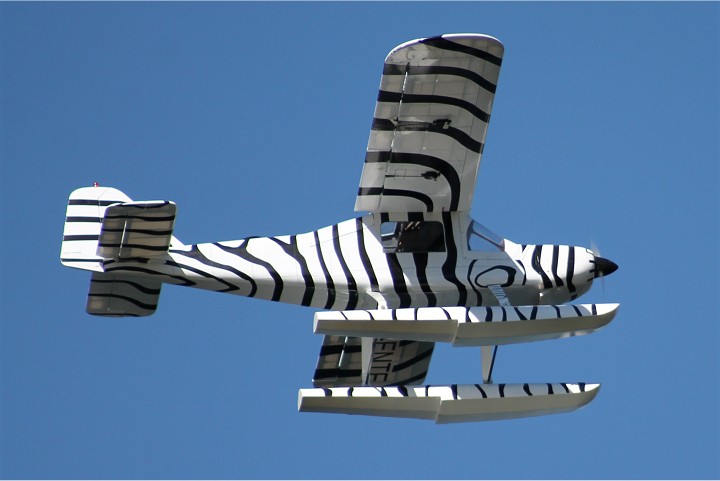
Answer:
<path fill-rule="evenodd" d="M 559 304 L 595 277 L 586 248 L 515 244 L 463 212 L 368 214 L 298 235 L 173 246 L 141 262 L 163 282 L 333 310 L 498 305 L 493 285 L 513 305 Z"/>

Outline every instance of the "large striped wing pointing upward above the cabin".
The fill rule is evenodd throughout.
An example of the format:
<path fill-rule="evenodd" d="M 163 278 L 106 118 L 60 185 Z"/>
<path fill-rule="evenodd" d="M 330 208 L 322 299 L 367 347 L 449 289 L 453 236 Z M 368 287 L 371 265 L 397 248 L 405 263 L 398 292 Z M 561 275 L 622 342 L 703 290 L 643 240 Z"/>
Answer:
<path fill-rule="evenodd" d="M 468 211 L 502 44 L 486 35 L 413 40 L 385 59 L 356 211 Z"/>

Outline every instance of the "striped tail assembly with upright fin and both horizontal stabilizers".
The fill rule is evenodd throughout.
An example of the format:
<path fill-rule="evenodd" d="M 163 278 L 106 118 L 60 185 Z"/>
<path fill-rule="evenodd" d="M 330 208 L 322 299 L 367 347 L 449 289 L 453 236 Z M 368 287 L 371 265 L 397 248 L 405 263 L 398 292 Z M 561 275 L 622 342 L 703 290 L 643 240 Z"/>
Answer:
<path fill-rule="evenodd" d="M 133 202 L 117 189 L 81 188 L 70 194 L 60 261 L 93 271 L 86 310 L 100 316 L 148 316 L 155 312 L 162 283 L 117 268 L 118 261 L 161 258 L 172 236 L 175 204 Z M 105 265 L 112 264 L 113 272 Z"/>

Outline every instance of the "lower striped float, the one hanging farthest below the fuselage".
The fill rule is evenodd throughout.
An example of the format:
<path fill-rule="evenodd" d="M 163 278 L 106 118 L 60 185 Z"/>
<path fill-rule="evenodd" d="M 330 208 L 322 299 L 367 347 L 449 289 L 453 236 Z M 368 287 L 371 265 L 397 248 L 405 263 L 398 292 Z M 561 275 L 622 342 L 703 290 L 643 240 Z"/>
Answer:
<path fill-rule="evenodd" d="M 432 419 L 438 424 L 541 416 L 574 411 L 599 384 L 453 384 L 450 386 L 300 389 L 298 410 Z"/>

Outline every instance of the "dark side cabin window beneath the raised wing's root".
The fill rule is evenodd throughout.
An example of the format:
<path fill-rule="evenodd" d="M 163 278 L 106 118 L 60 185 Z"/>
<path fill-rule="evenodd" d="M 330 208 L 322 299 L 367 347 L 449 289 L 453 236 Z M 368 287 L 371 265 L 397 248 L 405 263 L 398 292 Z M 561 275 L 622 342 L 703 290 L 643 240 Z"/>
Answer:
<path fill-rule="evenodd" d="M 383 222 L 380 234 L 386 253 L 445 252 L 445 233 L 441 222 Z"/>

